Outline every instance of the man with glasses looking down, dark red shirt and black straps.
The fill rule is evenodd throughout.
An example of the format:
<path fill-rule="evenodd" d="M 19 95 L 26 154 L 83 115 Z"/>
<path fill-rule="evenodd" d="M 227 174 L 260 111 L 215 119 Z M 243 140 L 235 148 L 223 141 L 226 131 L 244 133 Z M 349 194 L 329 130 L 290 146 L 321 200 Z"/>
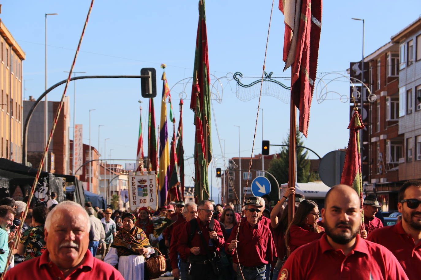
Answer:
<path fill-rule="evenodd" d="M 182 228 L 177 251 L 188 256 L 189 279 L 215 280 L 218 276 L 213 272 L 211 262 L 215 262 L 215 254 L 219 254 L 219 248 L 225 245 L 224 236 L 219 222 L 213 221 L 213 230 L 211 228 L 210 221 L 215 210 L 209 200 L 200 201 L 197 211 L 197 218 Z"/>

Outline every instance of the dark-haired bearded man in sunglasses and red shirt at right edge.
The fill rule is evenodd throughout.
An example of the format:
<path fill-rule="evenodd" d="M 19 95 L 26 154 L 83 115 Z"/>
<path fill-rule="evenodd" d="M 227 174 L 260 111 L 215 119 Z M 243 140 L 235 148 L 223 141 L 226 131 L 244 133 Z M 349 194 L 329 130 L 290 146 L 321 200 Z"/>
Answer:
<path fill-rule="evenodd" d="M 373 230 L 367 240 L 389 249 L 398 259 L 409 279 L 421 275 L 421 181 L 405 182 L 399 190 L 397 209 L 402 221 Z"/>

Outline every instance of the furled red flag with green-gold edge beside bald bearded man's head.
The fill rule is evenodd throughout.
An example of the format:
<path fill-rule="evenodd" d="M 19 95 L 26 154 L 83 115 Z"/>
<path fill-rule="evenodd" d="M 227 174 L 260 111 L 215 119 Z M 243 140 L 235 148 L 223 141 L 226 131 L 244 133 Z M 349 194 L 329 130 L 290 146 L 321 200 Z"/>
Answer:
<path fill-rule="evenodd" d="M 360 132 L 364 128 L 361 116 L 355 112 L 349 122 L 349 143 L 346 149 L 344 170 L 342 171 L 341 184 L 352 186 L 360 194 L 362 207 L 362 174 L 361 174 L 361 152 Z M 362 215 L 362 228 L 364 229 L 364 215 Z"/>

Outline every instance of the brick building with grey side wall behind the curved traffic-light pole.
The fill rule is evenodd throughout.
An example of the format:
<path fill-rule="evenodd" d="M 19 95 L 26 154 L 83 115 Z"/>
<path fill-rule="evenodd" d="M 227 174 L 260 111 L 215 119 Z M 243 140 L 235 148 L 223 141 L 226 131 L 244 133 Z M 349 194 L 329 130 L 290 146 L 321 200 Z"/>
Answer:
<path fill-rule="evenodd" d="M 32 167 L 38 168 L 40 160 L 45 148 L 44 144 L 44 102 L 38 103 L 28 126 L 27 135 L 27 161 Z M 29 100 L 23 101 L 23 118 L 26 119 L 29 110 L 35 103 L 35 99 L 29 97 Z M 59 107 L 59 101 L 48 101 L 48 133 L 53 125 L 54 116 Z M 70 126 L 70 107 L 69 97 L 64 97 L 64 104 L 61 109 L 59 119 L 57 120 L 56 129 L 48 148 L 48 172 L 59 174 L 71 174 L 70 157 L 69 157 L 69 126 Z"/>

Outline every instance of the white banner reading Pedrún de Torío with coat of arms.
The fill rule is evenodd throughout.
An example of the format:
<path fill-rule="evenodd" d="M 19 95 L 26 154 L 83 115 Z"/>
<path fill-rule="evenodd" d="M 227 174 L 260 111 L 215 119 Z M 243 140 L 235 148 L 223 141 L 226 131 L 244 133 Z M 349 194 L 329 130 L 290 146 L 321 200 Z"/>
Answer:
<path fill-rule="evenodd" d="M 129 202 L 130 210 L 135 211 L 137 207 L 150 207 L 152 210 L 158 208 L 157 176 L 143 172 L 129 173 Z"/>

